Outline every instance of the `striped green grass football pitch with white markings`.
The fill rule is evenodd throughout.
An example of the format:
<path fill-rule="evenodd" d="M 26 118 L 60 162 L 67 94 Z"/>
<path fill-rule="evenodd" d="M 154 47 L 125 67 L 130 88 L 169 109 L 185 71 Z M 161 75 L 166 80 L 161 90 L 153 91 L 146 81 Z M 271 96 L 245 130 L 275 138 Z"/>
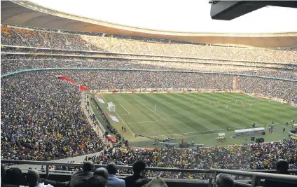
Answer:
<path fill-rule="evenodd" d="M 275 141 L 288 137 L 291 119 L 296 120 L 297 116 L 297 107 L 237 93 L 113 94 L 94 97 L 104 113 L 118 118 L 120 123 L 113 122 L 106 115 L 113 127 L 130 141 L 130 146 L 135 147 L 155 147 L 153 140 L 135 137 L 135 134 L 158 139 L 173 137 L 176 140 L 172 142 L 184 139 L 205 146 L 249 143 L 249 137 L 231 138 L 235 135 L 234 130 L 251 128 L 253 123 L 256 127 L 266 127 L 272 121 L 275 132 L 269 134 L 266 130 L 266 135 L 256 137 Z M 116 112 L 109 112 L 107 104 L 100 103 L 98 97 L 105 102 L 113 102 Z M 214 106 L 217 102 L 218 107 Z M 251 108 L 244 108 L 241 102 L 251 104 Z M 289 122 L 288 126 L 286 122 Z M 122 126 L 127 132 L 121 131 Z M 218 132 L 226 133 L 225 142 L 216 141 Z"/>

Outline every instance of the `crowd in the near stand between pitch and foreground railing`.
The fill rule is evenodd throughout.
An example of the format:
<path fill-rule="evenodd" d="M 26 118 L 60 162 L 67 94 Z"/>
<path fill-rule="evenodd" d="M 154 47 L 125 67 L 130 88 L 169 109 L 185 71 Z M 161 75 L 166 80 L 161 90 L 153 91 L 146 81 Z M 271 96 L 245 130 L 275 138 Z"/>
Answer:
<path fill-rule="evenodd" d="M 97 156 L 85 157 L 100 165 L 115 162 L 117 165 L 132 165 L 144 160 L 148 167 L 182 169 L 275 169 L 276 162 L 284 159 L 289 169 L 297 169 L 297 141 L 287 139 L 269 143 L 244 144 L 241 146 L 217 146 L 193 149 L 104 149 Z M 118 169 L 119 174 L 131 174 L 128 169 Z M 207 174 L 181 172 L 156 172 L 146 170 L 146 176 L 162 176 L 171 179 L 207 179 Z"/>

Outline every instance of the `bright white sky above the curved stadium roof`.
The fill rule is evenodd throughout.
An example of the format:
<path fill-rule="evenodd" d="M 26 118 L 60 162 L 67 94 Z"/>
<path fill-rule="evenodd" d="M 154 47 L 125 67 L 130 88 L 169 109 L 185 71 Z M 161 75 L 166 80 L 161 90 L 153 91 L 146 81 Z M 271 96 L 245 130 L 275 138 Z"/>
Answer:
<path fill-rule="evenodd" d="M 234 20 L 212 20 L 208 0 L 29 0 L 104 22 L 174 32 L 297 32 L 297 8 L 268 6 Z"/>

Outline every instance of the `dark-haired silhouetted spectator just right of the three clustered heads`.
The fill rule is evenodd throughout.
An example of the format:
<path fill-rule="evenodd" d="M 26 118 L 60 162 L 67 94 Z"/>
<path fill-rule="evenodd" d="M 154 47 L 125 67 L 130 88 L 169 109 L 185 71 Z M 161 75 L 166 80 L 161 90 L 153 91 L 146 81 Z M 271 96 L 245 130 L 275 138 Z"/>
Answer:
<path fill-rule="evenodd" d="M 125 178 L 126 187 L 140 187 L 148 183 L 146 176 L 141 176 L 141 172 L 146 168 L 146 164 L 142 160 L 137 160 L 133 164 L 133 175 Z"/>

